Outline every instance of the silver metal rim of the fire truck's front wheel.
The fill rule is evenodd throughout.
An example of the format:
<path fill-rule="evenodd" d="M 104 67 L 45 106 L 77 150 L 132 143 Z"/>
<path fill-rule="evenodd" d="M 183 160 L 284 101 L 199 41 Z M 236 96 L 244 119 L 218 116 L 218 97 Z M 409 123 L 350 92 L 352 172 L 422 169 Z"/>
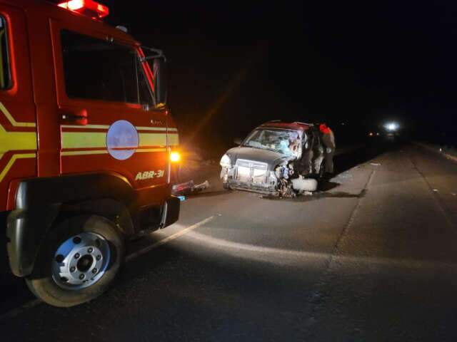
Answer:
<path fill-rule="evenodd" d="M 101 279 L 110 259 L 108 241 L 100 234 L 84 232 L 67 239 L 56 250 L 52 278 L 64 289 L 84 289 Z"/>

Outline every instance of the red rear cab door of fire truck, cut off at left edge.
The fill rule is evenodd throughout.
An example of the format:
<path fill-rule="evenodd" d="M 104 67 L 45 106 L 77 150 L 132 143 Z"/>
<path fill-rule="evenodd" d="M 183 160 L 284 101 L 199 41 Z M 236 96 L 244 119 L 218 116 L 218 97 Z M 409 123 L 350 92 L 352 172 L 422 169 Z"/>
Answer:
<path fill-rule="evenodd" d="M 36 175 L 36 112 L 26 19 L 0 4 L 0 212 L 13 209 L 12 180 Z"/>

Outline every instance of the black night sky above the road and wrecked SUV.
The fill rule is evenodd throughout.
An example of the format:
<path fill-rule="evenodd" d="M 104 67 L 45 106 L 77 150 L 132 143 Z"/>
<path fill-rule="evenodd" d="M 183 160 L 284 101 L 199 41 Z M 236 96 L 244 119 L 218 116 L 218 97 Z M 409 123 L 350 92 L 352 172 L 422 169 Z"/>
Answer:
<path fill-rule="evenodd" d="M 272 119 L 457 135 L 454 1 L 101 2 L 165 51 L 184 140 L 223 144 Z"/>

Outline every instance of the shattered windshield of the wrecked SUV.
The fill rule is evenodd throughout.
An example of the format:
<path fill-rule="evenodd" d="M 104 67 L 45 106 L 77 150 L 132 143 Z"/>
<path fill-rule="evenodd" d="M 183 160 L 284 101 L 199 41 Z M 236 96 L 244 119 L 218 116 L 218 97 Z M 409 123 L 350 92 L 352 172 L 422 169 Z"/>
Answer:
<path fill-rule="evenodd" d="M 254 130 L 243 142 L 243 146 L 271 150 L 298 157 L 301 154 L 301 132 L 298 130 Z"/>

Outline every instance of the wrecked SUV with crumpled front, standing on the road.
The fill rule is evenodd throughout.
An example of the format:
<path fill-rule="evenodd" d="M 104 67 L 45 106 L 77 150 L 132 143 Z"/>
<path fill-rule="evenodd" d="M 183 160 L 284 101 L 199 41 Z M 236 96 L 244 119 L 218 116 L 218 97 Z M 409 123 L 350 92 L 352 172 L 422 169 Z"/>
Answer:
<path fill-rule="evenodd" d="M 324 148 L 318 126 L 270 121 L 221 158 L 226 189 L 295 197 L 317 189 Z"/>

